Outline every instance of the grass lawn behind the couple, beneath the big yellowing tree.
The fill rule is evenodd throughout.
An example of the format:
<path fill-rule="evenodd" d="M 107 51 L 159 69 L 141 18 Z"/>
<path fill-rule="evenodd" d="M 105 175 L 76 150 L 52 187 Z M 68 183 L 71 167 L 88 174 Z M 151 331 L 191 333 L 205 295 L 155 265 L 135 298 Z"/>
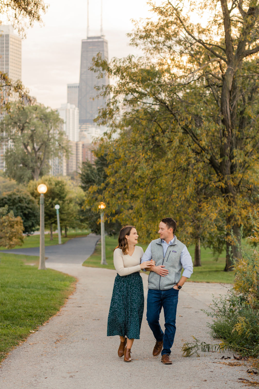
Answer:
<path fill-rule="evenodd" d="M 108 265 L 101 265 L 101 242 L 96 246 L 94 253 L 83 263 L 83 266 L 100 267 L 106 269 L 114 269 L 113 266 L 113 249 L 118 244 L 118 239 L 114 237 L 106 237 L 106 261 Z M 138 244 L 145 251 L 148 245 Z M 194 246 L 188 247 L 191 258 L 194 259 Z M 202 266 L 195 267 L 190 281 L 195 282 L 223 282 L 231 284 L 233 282 L 233 273 L 224 272 L 225 258 L 224 253 L 217 261 L 213 259 L 213 254 L 210 249 L 201 248 Z M 146 272 L 148 274 L 148 272 Z"/>

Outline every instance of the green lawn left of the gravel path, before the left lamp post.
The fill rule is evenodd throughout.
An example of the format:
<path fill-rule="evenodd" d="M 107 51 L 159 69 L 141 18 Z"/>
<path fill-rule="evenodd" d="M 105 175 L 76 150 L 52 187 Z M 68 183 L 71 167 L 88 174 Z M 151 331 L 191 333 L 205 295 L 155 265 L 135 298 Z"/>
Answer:
<path fill-rule="evenodd" d="M 0 254 L 0 361 L 30 331 L 55 315 L 74 289 L 75 278 L 25 263 L 38 257 Z"/>

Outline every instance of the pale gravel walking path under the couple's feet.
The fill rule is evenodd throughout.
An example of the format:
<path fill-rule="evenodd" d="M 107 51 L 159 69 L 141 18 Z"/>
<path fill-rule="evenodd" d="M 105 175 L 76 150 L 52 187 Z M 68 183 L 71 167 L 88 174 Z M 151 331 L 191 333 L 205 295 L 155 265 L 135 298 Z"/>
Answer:
<path fill-rule="evenodd" d="M 132 347 L 133 362 L 119 359 L 118 337 L 106 336 L 116 272 L 75 263 L 82 242 L 90 244 L 90 240 L 80 239 L 76 251 L 63 253 L 59 262 L 49 254 L 51 261 L 46 261 L 48 267 L 78 278 L 75 293 L 56 316 L 2 362 L 0 389 L 241 389 L 243 384 L 238 378 L 254 380 L 248 377 L 247 366 L 240 363 L 230 367 L 227 363 L 232 360 L 222 361 L 222 354 L 182 357 L 181 346 L 184 341 L 191 341 L 192 335 L 212 341 L 207 334 L 208 318 L 201 309 L 208 308 L 212 293 L 227 293 L 228 289 L 218 284 L 188 282 L 179 291 L 172 365 L 163 365 L 160 357 L 152 356 L 155 342 L 146 322 L 146 308 L 141 338 Z M 75 241 L 70 241 L 71 246 L 75 246 Z M 87 252 L 87 247 L 84 250 Z M 146 297 L 148 277 L 141 275 Z"/>

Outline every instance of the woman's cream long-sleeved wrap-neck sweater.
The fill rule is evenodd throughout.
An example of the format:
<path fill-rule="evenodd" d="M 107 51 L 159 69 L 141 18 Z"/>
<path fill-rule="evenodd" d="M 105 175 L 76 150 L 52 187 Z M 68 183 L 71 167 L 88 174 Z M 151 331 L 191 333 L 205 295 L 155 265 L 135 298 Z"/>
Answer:
<path fill-rule="evenodd" d="M 135 250 L 130 256 L 124 255 L 122 249 L 115 249 L 113 253 L 113 263 L 118 275 L 128 275 L 140 272 L 140 261 L 144 254 L 143 248 L 135 246 Z"/>

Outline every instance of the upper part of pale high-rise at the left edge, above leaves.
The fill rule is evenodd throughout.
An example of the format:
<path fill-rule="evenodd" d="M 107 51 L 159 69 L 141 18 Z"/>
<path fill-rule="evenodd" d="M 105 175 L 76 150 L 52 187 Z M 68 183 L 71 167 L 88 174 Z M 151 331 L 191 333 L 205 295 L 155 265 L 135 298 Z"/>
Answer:
<path fill-rule="evenodd" d="M 0 26 L 0 71 L 12 81 L 22 78 L 22 40 L 10 25 Z"/>

